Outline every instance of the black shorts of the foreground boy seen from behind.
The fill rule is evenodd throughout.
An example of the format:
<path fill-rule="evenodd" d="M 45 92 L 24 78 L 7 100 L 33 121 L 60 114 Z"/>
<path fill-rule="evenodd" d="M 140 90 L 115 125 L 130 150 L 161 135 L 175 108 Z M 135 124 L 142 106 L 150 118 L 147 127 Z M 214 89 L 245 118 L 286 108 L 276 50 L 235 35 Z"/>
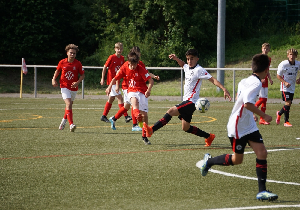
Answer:
<path fill-rule="evenodd" d="M 244 154 L 247 143 L 249 145 L 249 140 L 263 144 L 262 135 L 260 135 L 258 130 L 254 131 L 251 134 L 247 134 L 241 137 L 240 139 L 235 139 L 234 137 L 228 137 L 228 138 L 230 139 L 232 151 L 238 154 Z"/>

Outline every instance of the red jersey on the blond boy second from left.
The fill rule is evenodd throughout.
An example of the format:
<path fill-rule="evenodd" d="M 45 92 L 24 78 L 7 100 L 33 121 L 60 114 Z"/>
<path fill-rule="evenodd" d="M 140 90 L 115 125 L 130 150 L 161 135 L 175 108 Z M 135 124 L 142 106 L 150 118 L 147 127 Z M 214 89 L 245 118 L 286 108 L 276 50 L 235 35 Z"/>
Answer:
<path fill-rule="evenodd" d="M 120 56 L 118 58 L 116 54 L 110 55 L 107 58 L 107 61 L 105 62 L 105 66 L 108 67 L 108 72 L 107 72 L 107 85 L 110 84 L 112 79 L 116 76 L 117 71 L 119 68 L 125 63 L 124 56 Z"/>

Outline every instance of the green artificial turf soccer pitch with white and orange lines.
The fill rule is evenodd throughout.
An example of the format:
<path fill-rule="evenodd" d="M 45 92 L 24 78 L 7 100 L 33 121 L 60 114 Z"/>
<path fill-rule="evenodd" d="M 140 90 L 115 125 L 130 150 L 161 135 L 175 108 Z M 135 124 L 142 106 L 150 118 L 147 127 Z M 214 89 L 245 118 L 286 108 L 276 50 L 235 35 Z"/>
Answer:
<path fill-rule="evenodd" d="M 226 125 L 233 103 L 213 102 L 207 113 L 194 113 L 192 125 L 216 134 L 206 148 L 204 138 L 182 131 L 177 117 L 149 138 L 151 145 L 124 117 L 113 131 L 100 120 L 105 102 L 76 99 L 77 129 L 70 133 L 68 125 L 58 129 L 62 99 L 0 98 L 0 209 L 299 209 L 299 104 L 291 107 L 293 127 L 275 123 L 281 104 L 268 104 L 273 121 L 258 125 L 273 150 L 267 189 L 279 196 L 259 202 L 257 181 L 247 178 L 256 177 L 253 153 L 241 165 L 214 166 L 205 177 L 196 167 L 205 153 L 232 153 Z M 149 124 L 175 104 L 149 101 Z M 118 109 L 115 102 L 108 117 Z"/>

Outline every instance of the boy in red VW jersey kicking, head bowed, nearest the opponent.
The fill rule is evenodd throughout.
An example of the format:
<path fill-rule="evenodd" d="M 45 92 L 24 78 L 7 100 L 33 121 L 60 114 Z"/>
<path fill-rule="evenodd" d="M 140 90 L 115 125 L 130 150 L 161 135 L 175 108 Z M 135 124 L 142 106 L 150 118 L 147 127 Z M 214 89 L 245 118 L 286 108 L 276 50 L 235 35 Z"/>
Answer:
<path fill-rule="evenodd" d="M 142 127 L 143 121 L 148 123 L 148 97 L 150 96 L 154 81 L 147 70 L 138 64 L 140 58 L 137 53 L 130 52 L 127 55 L 127 59 L 128 65 L 123 65 L 120 68 L 120 71 L 112 79 L 105 92 L 107 95 L 109 95 L 113 84 L 117 80 L 126 77 L 128 81 L 128 98 L 133 107 L 134 117 L 137 118 L 140 127 Z M 147 87 L 146 81 L 149 81 L 149 87 Z M 112 126 L 115 126 L 115 121 L 112 121 L 111 123 Z M 143 141 L 145 144 L 150 144 L 144 128 Z"/>

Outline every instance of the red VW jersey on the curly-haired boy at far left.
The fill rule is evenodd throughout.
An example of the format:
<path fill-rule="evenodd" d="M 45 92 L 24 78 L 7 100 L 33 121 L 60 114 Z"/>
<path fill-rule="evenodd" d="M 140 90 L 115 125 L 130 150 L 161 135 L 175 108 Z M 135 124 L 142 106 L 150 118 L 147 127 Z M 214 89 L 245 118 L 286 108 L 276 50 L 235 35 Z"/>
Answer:
<path fill-rule="evenodd" d="M 78 81 L 78 75 L 84 74 L 84 69 L 80 61 L 74 59 L 72 63 L 68 62 L 68 58 L 59 61 L 56 69 L 61 71 L 61 76 L 59 79 L 60 88 L 67 88 L 71 91 L 77 91 L 76 88 L 71 88 L 72 83 Z"/>

